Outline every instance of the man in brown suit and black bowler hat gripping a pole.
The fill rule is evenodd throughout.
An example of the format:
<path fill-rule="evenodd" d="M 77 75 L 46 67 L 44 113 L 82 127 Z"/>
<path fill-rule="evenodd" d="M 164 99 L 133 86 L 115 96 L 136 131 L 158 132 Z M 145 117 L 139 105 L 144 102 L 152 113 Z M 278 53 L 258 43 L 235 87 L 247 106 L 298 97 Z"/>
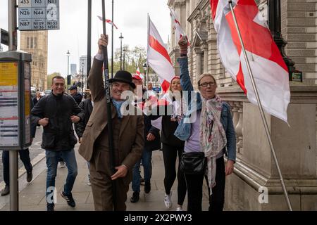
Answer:
<path fill-rule="evenodd" d="M 102 79 L 102 63 L 104 60 L 102 49 L 107 44 L 108 38 L 101 34 L 98 41 L 99 50 L 94 57 L 94 63 L 88 78 L 94 109 L 82 135 L 79 153 L 90 162 L 89 172 L 95 210 L 125 211 L 127 192 L 132 181 L 132 168 L 137 160 L 141 158 L 144 148 L 144 122 L 142 113 L 137 114 L 135 112 L 134 115 L 123 115 L 122 110 L 120 110 L 123 103 L 125 103 L 121 99 L 121 94 L 123 94 L 123 91 L 133 91 L 135 84 L 132 82 L 130 72 L 119 70 L 113 79 L 109 80 L 111 83 L 114 167 L 116 169 L 113 174 L 109 166 L 106 94 Z M 125 107 L 132 107 L 134 111 L 137 110 L 130 104 L 125 104 Z M 116 185 L 115 196 L 113 196 L 112 190 L 113 181 Z M 116 203 L 114 209 L 113 202 Z"/>

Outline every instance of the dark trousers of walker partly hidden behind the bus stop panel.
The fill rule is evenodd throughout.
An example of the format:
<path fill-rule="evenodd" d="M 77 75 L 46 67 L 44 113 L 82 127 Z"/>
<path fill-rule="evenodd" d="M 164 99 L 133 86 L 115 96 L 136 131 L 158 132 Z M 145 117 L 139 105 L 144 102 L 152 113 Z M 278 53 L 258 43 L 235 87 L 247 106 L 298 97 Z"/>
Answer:
<path fill-rule="evenodd" d="M 32 164 L 30 160 L 30 151 L 29 149 L 19 150 L 20 160 L 23 162 L 23 165 L 27 171 L 27 173 L 32 172 Z M 2 152 L 2 163 L 4 165 L 4 183 L 6 186 L 10 186 L 10 160 L 9 160 L 9 152 L 8 150 L 4 150 Z"/>

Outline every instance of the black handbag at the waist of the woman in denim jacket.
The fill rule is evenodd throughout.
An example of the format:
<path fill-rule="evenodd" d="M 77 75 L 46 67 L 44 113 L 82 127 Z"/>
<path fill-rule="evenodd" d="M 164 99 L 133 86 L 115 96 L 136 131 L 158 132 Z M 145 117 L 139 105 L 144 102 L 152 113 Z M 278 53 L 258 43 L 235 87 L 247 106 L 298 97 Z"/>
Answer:
<path fill-rule="evenodd" d="M 204 153 L 182 153 L 180 169 L 185 174 L 204 174 L 207 158 Z"/>

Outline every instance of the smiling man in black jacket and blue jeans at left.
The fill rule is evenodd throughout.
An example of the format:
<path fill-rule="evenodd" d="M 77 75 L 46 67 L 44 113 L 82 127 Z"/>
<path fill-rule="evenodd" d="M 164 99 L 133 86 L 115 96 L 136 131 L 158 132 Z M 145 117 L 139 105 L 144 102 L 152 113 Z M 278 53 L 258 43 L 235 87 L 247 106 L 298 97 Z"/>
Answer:
<path fill-rule="evenodd" d="M 68 168 L 66 184 L 61 195 L 68 205 L 75 207 L 75 200 L 71 193 L 77 176 L 74 151 L 77 139 L 73 130 L 73 122 L 80 122 L 85 116 L 74 98 L 64 94 L 65 79 L 63 77 L 55 76 L 51 83 L 51 94 L 41 98 L 31 111 L 32 123 L 44 127 L 41 147 L 46 154 L 46 203 L 48 211 L 54 211 L 54 203 L 56 202 L 54 193 L 58 158 L 62 158 Z"/>

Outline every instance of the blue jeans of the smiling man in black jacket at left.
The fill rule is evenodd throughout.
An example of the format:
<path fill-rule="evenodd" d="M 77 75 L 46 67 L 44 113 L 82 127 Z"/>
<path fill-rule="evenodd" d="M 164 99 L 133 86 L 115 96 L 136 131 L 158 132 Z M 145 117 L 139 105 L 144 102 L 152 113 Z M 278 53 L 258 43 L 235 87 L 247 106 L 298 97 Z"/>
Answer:
<path fill-rule="evenodd" d="M 59 158 L 62 158 L 63 161 L 66 162 L 66 167 L 68 169 L 66 184 L 64 185 L 63 191 L 66 195 L 69 195 L 72 192 L 77 176 L 77 162 L 74 149 L 59 152 L 46 150 L 45 155 L 47 166 L 46 197 L 51 193 L 51 188 L 55 187 L 55 178 Z M 48 198 L 46 198 L 46 200 L 47 199 Z"/>

